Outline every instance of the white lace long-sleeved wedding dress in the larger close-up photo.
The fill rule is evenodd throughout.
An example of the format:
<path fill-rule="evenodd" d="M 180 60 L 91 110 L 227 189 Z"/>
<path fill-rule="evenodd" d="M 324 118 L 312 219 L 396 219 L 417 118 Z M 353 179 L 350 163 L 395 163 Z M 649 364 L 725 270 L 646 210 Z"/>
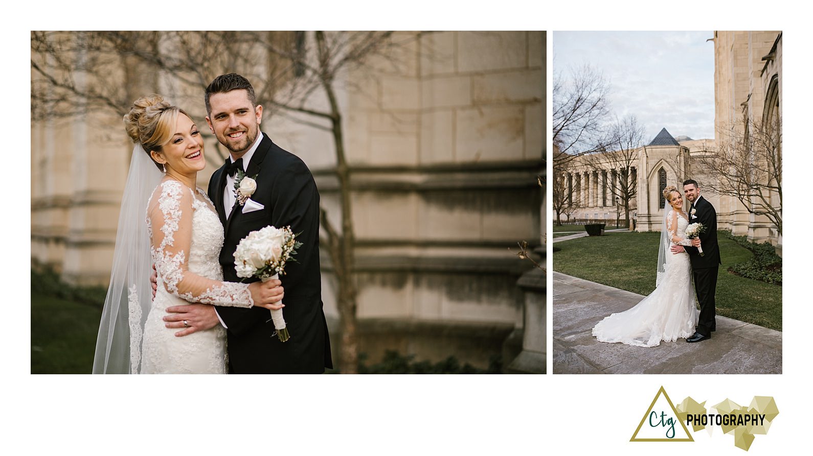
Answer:
<path fill-rule="evenodd" d="M 176 337 L 180 329 L 168 329 L 162 320 L 166 308 L 189 302 L 245 308 L 253 304 L 248 284 L 221 282 L 218 256 L 224 234 L 213 204 L 199 188 L 194 192 L 176 180 L 166 180 L 147 206 L 147 226 L 158 290 L 144 326 L 140 372 L 225 373 L 223 327 Z M 137 343 L 138 338 L 133 338 L 131 344 Z M 138 360 L 134 361 L 137 365 Z"/>

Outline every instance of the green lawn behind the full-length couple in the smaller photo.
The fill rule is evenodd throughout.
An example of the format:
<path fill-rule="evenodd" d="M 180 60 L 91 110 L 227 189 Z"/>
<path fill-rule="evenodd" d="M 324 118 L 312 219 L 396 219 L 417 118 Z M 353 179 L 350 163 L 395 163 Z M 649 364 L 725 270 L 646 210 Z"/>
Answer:
<path fill-rule="evenodd" d="M 556 226 L 554 226 L 555 231 Z M 657 232 L 615 232 L 556 243 L 554 271 L 649 295 L 655 288 Z M 717 277 L 717 314 L 771 329 L 782 329 L 782 287 L 728 273 L 751 252 L 717 234 L 723 264 Z"/>

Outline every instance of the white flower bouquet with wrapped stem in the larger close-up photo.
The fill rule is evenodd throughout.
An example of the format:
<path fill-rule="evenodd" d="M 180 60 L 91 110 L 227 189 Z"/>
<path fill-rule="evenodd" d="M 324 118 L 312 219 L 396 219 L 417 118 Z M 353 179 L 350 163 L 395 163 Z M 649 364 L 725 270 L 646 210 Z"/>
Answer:
<path fill-rule="evenodd" d="M 301 233 L 299 233 L 301 234 Z M 285 275 L 285 263 L 296 261 L 293 258 L 297 249 L 302 246 L 296 240 L 299 234 L 293 234 L 290 226 L 275 228 L 266 226 L 262 230 L 251 231 L 241 239 L 234 251 L 234 269 L 237 277 L 259 277 L 263 282 Z M 280 342 L 290 338 L 285 327 L 282 309 L 272 310 L 276 336 Z M 273 337 L 273 336 L 272 336 Z"/>

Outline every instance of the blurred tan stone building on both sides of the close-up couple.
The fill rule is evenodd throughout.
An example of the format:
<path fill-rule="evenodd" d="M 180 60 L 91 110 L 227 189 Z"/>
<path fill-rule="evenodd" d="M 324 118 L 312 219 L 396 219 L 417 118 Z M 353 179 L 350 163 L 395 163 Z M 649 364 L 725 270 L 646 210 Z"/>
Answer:
<path fill-rule="evenodd" d="M 516 370 L 541 372 L 544 276 L 518 286 L 533 268 L 507 247 L 544 239 L 537 176 L 546 151 L 546 32 L 397 36 L 407 43 L 397 64 L 372 62 L 372 72 L 338 84 L 362 351 L 371 359 L 386 349 L 417 359 L 457 355 L 479 367 L 500 354 L 507 366 L 524 353 L 532 361 Z M 341 226 L 330 133 L 272 114 L 262 127 L 307 163 L 328 218 Z M 70 282 L 107 281 L 131 148 L 117 118 L 32 125 L 33 263 Z M 214 169 L 199 174 L 199 186 Z M 336 335 L 325 252 L 322 264 Z"/>

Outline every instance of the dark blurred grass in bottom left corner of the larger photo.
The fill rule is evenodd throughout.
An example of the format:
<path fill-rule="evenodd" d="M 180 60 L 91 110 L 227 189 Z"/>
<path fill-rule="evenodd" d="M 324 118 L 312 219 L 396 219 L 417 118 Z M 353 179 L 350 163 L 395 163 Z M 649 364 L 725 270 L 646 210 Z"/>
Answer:
<path fill-rule="evenodd" d="M 31 292 L 31 373 L 89 374 L 101 307 Z"/>

